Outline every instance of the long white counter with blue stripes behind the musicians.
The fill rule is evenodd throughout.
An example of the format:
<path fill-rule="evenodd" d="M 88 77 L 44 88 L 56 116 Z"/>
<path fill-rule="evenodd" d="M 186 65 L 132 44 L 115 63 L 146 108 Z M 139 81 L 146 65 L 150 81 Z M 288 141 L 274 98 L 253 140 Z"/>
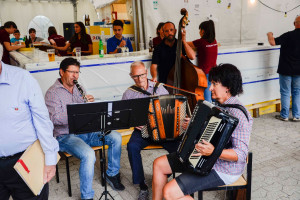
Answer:
<path fill-rule="evenodd" d="M 47 53 L 39 54 L 39 62 L 33 53 L 11 52 L 11 56 L 32 73 L 40 83 L 43 93 L 59 77 L 58 70 L 62 57 L 55 62 L 47 62 Z M 144 52 L 131 52 L 129 56 L 97 55 L 83 56 L 79 83 L 89 94 L 98 100 L 117 100 L 133 84 L 129 76 L 130 64 L 142 60 L 147 67 L 151 65 L 151 55 Z M 231 63 L 242 73 L 244 94 L 239 99 L 245 104 L 259 103 L 280 98 L 278 74 L 279 46 L 234 46 L 220 47 L 217 63 Z M 149 71 L 148 71 L 149 73 Z M 150 76 L 149 76 L 150 77 Z"/>

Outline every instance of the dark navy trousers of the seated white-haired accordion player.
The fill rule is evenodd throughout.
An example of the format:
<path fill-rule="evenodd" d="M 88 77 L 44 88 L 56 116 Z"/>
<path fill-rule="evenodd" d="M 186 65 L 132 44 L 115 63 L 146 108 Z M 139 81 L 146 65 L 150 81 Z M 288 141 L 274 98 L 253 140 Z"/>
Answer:
<path fill-rule="evenodd" d="M 127 143 L 128 158 L 132 170 L 133 184 L 140 184 L 145 181 L 144 169 L 142 163 L 141 150 L 146 146 L 154 144 L 150 139 L 142 138 L 141 131 L 134 130 L 129 142 Z M 169 153 L 175 152 L 179 141 L 155 143 L 163 146 Z"/>

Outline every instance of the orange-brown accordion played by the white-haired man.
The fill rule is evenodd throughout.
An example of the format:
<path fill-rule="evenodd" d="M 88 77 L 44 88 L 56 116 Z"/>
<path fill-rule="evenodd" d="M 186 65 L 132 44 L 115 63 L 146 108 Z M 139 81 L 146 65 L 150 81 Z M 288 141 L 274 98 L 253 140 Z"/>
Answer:
<path fill-rule="evenodd" d="M 187 98 L 182 95 L 156 96 L 150 100 L 148 123 L 141 130 L 143 138 L 154 142 L 171 141 L 185 132 L 182 128 Z"/>

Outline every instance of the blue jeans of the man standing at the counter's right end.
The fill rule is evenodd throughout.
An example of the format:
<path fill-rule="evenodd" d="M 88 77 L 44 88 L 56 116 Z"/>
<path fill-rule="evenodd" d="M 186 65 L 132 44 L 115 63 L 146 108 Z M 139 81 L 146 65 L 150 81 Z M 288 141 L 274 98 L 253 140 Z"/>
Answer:
<path fill-rule="evenodd" d="M 289 117 L 290 96 L 292 94 L 292 114 L 293 117 L 300 118 L 300 76 L 285 76 L 279 74 L 279 84 L 281 117 Z"/>

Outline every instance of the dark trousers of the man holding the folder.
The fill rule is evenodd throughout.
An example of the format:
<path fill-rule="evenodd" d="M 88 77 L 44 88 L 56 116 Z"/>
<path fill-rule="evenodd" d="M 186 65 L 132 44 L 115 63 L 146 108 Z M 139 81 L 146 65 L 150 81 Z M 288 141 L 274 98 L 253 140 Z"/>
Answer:
<path fill-rule="evenodd" d="M 0 160 L 0 199 L 8 200 L 12 196 L 14 200 L 47 200 L 49 196 L 48 183 L 40 195 L 35 196 L 13 168 L 20 156 Z"/>

